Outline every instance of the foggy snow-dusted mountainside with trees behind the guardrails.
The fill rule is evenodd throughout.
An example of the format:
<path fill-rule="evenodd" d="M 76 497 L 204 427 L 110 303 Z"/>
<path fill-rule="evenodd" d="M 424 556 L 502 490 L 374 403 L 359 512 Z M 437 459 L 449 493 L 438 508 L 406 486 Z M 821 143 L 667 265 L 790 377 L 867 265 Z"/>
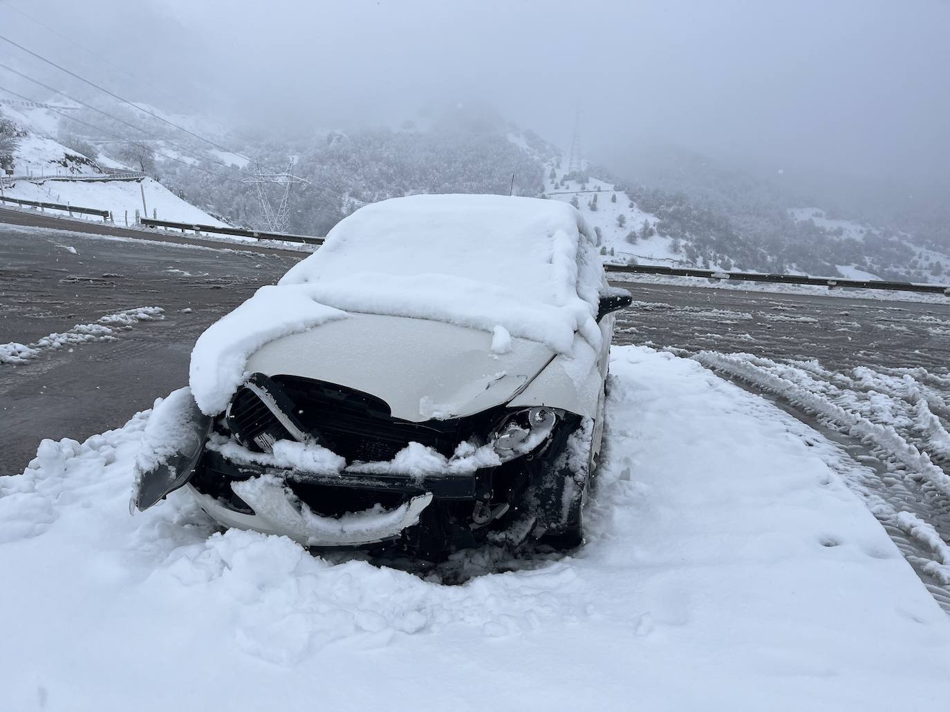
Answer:
<path fill-rule="evenodd" d="M 81 133 L 75 122 L 44 109 L 3 108 L 29 127 L 17 157 L 29 173 L 95 175 L 100 168 L 128 162 L 121 141 L 104 142 L 94 132 Z M 819 205 L 801 207 L 808 203 L 796 202 L 768 181 L 697 154 L 663 154 L 659 162 L 667 167 L 665 174 L 635 172 L 632 182 L 599 166 L 567 175 L 568 161 L 560 148 L 482 105 L 427 109 L 414 120 L 390 127 L 346 132 L 314 128 L 307 135 L 280 137 L 146 108 L 275 171 L 294 159 L 295 174 L 310 181 L 310 187 L 295 188 L 290 196 L 290 230 L 295 233 L 326 234 L 358 207 L 387 197 L 512 191 L 574 202 L 598 229 L 604 259 L 614 263 L 636 260 L 914 281 L 950 278 L 950 247 L 944 252 L 932 237 L 845 219 L 853 216 Z M 260 227 L 257 195 L 241 182 L 249 172 L 246 159 L 128 106 L 110 106 L 109 112 L 153 137 L 148 143 L 155 161 L 151 175 L 159 181 L 148 183 L 146 193 L 167 188 L 170 194 L 151 199 L 146 195 L 149 213 L 157 209 L 167 219 L 209 223 L 215 222 L 212 215 L 223 215 L 233 224 Z M 77 112 L 79 117 L 130 141 L 142 138 L 121 122 Z M 100 142 L 93 147 L 91 141 L 97 138 Z M 84 148 L 97 155 L 84 154 Z M 15 194 L 19 197 L 45 200 L 57 193 L 69 193 L 63 199 L 75 197 L 76 202 L 104 199 L 98 188 L 67 191 L 57 185 L 22 184 L 17 190 L 22 191 Z M 130 193 L 134 191 L 116 189 L 105 207 L 131 215 L 142 201 Z"/>

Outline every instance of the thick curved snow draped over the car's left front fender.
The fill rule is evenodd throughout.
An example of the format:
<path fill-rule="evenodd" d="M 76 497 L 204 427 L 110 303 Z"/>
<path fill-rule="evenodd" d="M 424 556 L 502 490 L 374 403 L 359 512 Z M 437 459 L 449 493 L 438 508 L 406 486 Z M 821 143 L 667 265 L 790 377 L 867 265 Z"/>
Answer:
<path fill-rule="evenodd" d="M 220 413 L 247 377 L 247 358 L 258 348 L 345 316 L 345 311 L 316 302 L 306 287 L 261 287 L 195 344 L 188 374 L 195 403 L 206 415 Z"/>

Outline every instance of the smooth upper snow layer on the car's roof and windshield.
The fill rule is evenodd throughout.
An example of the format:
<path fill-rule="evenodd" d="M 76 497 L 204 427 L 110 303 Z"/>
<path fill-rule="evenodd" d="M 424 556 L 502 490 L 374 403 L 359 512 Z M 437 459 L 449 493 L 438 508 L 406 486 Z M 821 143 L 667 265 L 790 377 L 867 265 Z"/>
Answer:
<path fill-rule="evenodd" d="M 323 248 L 280 283 L 337 280 L 353 272 L 437 274 L 562 306 L 577 296 L 579 236 L 590 235 L 580 213 L 555 200 L 397 197 L 343 219 Z"/>

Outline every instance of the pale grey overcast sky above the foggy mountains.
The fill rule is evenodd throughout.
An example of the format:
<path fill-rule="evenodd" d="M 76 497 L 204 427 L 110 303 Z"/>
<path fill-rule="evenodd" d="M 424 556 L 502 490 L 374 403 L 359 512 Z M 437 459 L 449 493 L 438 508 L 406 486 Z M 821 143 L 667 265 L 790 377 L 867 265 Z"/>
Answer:
<path fill-rule="evenodd" d="M 235 121 L 345 128 L 481 100 L 566 148 L 580 105 L 598 158 L 669 141 L 950 182 L 947 0 L 0 0 L 0 34 L 135 100 Z M 5 43 L 0 61 L 44 71 Z"/>

